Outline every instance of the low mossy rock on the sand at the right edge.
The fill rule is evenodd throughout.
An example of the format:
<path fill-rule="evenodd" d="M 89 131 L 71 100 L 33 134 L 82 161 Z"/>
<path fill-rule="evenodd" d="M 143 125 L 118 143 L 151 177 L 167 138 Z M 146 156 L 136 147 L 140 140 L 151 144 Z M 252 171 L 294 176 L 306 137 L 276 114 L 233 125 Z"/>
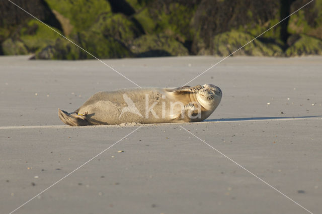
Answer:
<path fill-rule="evenodd" d="M 304 34 L 292 35 L 289 40 L 292 40 L 293 38 L 296 41 L 293 41 L 293 44 L 285 51 L 286 56 L 322 54 L 322 40 Z"/>

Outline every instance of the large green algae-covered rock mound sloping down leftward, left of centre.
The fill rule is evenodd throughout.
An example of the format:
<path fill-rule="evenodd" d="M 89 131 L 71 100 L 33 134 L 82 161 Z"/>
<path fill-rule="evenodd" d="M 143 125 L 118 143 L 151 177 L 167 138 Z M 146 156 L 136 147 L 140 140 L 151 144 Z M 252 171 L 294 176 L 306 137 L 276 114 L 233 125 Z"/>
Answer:
<path fill-rule="evenodd" d="M 98 58 L 132 57 L 128 47 L 141 32 L 122 14 L 103 14 L 87 31 L 72 36 L 72 40 Z M 59 39 L 36 54 L 36 59 L 93 59 L 93 56 L 68 41 Z"/>

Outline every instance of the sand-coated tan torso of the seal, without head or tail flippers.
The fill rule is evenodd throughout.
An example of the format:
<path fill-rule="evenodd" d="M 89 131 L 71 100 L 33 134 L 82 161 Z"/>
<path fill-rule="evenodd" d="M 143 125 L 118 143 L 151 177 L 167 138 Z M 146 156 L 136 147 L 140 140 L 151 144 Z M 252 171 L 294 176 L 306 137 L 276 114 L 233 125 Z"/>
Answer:
<path fill-rule="evenodd" d="M 183 100 L 174 100 L 161 88 L 122 89 L 98 92 L 75 112 L 88 112 L 87 120 L 94 125 L 171 123 L 189 103 Z"/>

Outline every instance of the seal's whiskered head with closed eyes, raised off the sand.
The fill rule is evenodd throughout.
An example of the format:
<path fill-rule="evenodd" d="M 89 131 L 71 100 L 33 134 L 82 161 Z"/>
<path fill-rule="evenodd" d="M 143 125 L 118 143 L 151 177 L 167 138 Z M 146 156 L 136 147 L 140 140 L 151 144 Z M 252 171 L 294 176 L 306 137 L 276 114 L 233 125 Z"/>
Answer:
<path fill-rule="evenodd" d="M 196 94 L 198 102 L 206 110 L 214 111 L 222 97 L 221 89 L 213 84 L 204 84 Z"/>

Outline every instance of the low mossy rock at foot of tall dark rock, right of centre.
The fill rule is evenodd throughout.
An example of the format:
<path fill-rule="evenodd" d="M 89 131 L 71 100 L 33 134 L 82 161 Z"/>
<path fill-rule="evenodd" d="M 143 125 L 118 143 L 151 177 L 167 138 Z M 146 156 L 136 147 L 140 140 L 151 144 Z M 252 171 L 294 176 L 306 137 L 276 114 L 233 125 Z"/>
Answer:
<path fill-rule="evenodd" d="M 212 49 L 204 49 L 199 52 L 199 55 L 227 56 L 250 42 L 252 39 L 254 39 L 252 35 L 234 30 L 218 34 L 213 39 Z M 264 44 L 259 40 L 254 40 L 235 52 L 233 55 L 281 56 L 282 53 L 282 49 L 274 43 Z"/>

